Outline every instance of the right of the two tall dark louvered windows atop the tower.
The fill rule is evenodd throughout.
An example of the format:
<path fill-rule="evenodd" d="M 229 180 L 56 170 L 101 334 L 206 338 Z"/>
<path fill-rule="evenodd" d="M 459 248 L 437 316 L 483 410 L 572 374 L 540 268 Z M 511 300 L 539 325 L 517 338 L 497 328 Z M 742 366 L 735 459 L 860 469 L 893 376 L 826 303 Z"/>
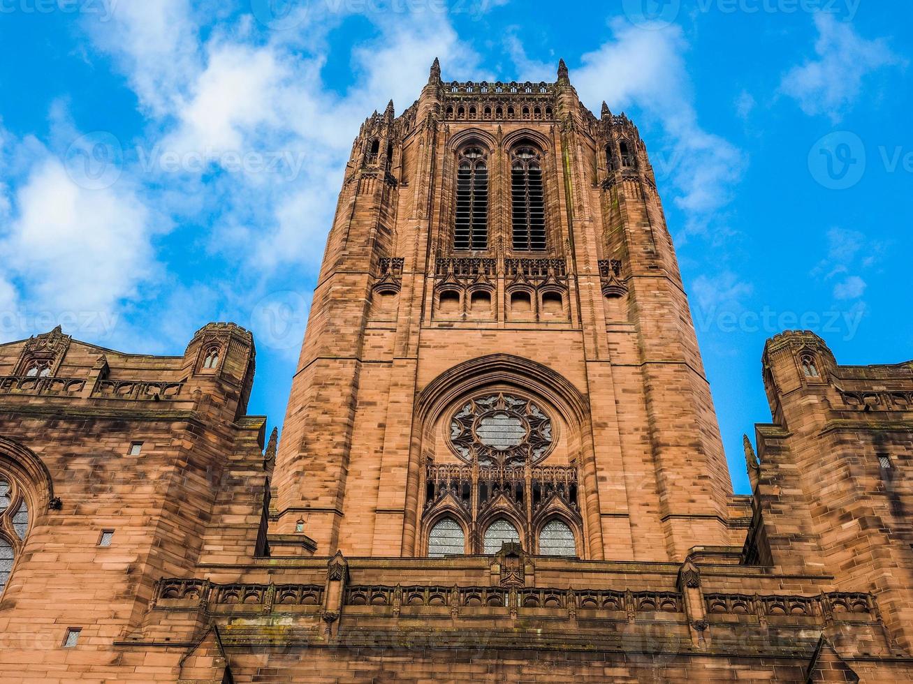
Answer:
<path fill-rule="evenodd" d="M 514 150 L 510 164 L 513 248 L 545 249 L 545 197 L 540 153 L 531 147 Z"/>

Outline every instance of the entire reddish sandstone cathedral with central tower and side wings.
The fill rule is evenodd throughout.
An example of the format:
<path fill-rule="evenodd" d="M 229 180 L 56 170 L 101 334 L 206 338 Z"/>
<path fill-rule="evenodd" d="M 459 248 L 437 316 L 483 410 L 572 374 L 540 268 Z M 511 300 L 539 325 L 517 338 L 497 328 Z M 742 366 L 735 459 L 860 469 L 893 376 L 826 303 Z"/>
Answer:
<path fill-rule="evenodd" d="M 913 363 L 772 338 L 734 495 L 645 144 L 563 63 L 367 119 L 278 448 L 254 361 L 0 346 L 3 681 L 913 680 Z"/>

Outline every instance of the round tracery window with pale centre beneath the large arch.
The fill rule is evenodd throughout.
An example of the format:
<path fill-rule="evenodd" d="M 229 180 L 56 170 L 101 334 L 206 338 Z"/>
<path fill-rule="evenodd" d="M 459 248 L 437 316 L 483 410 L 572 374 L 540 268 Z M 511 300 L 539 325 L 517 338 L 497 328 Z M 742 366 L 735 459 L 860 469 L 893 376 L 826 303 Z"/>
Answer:
<path fill-rule="evenodd" d="M 450 421 L 450 444 L 470 463 L 521 467 L 551 451 L 551 419 L 532 399 L 492 392 L 457 409 Z"/>

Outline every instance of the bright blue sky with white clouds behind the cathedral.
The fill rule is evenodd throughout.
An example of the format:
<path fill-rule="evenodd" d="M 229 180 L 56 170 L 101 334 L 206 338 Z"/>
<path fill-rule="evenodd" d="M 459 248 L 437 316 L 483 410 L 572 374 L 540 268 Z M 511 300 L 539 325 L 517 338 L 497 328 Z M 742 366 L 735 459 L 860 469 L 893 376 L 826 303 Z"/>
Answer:
<path fill-rule="evenodd" d="M 761 350 L 913 358 L 913 5 L 0 0 L 0 339 L 257 337 L 280 423 L 359 125 L 444 78 L 554 79 L 646 140 L 737 491 Z"/>

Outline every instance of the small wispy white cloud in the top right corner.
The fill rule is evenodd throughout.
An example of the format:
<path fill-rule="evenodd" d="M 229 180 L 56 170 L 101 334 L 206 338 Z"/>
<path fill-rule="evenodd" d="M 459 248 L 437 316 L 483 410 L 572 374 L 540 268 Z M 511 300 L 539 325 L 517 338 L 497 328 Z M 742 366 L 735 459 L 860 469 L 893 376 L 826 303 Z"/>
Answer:
<path fill-rule="evenodd" d="M 859 98 L 862 81 L 882 67 L 902 65 L 883 38 L 866 40 L 853 25 L 833 15 L 814 16 L 817 59 L 793 67 L 782 78 L 781 91 L 795 98 L 810 116 L 825 114 L 837 121 Z"/>

